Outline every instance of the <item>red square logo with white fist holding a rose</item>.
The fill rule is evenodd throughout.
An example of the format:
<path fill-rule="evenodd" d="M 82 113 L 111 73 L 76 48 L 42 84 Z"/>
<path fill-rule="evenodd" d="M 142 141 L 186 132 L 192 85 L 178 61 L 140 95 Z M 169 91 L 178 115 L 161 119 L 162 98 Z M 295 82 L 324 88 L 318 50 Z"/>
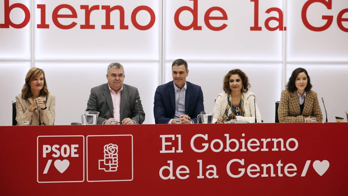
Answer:
<path fill-rule="evenodd" d="M 133 180 L 132 135 L 88 135 L 87 182 Z"/>

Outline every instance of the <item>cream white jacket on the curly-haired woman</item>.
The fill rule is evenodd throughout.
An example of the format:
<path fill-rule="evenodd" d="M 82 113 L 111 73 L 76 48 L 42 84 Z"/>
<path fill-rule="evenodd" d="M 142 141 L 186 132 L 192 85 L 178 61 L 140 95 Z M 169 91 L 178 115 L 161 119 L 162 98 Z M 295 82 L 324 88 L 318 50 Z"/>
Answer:
<path fill-rule="evenodd" d="M 244 95 L 244 112 L 245 112 L 245 118 L 240 119 L 247 122 L 255 122 L 255 107 L 256 107 L 256 121 L 261 122 L 261 114 L 259 111 L 258 104 L 254 106 L 254 98 L 255 94 L 248 91 L 243 92 Z M 217 95 L 214 105 L 214 116 L 213 116 L 213 123 L 217 121 L 217 118 L 220 116 L 222 117 L 225 113 L 226 107 L 227 107 L 227 98 L 228 95 L 226 93 L 220 93 Z M 237 119 L 238 120 L 238 119 Z"/>

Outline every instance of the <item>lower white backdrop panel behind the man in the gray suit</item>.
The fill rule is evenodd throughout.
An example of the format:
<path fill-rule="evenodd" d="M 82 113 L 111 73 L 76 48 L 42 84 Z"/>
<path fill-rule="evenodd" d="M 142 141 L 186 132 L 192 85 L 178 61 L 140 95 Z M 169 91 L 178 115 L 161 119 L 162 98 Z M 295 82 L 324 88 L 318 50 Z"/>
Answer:
<path fill-rule="evenodd" d="M 158 63 L 120 62 L 125 68 L 125 84 L 139 90 L 145 112 L 146 124 L 155 123 L 153 96 L 159 85 Z M 109 63 L 52 63 L 38 62 L 35 67 L 44 69 L 50 92 L 56 96 L 55 125 L 70 125 L 81 122 L 87 108 L 90 89 L 107 83 L 106 70 Z M 151 78 L 146 77 L 151 74 Z"/>

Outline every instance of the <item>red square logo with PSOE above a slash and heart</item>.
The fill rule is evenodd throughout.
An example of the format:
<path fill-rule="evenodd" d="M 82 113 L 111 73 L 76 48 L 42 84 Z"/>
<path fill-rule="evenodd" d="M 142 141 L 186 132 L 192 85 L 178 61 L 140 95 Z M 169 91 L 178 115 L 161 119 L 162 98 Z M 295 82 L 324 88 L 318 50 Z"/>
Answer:
<path fill-rule="evenodd" d="M 59 135 L 37 137 L 37 181 L 83 182 L 85 137 Z"/>

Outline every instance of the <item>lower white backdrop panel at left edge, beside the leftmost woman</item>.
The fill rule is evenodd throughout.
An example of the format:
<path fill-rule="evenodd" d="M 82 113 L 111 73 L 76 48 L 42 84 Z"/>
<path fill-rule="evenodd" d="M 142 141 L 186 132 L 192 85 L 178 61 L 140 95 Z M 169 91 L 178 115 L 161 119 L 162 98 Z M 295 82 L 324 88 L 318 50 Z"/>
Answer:
<path fill-rule="evenodd" d="M 2 99 L 0 101 L 0 126 L 12 125 L 11 101 L 22 92 L 25 75 L 30 69 L 30 62 L 0 62 L 0 83 Z"/>

